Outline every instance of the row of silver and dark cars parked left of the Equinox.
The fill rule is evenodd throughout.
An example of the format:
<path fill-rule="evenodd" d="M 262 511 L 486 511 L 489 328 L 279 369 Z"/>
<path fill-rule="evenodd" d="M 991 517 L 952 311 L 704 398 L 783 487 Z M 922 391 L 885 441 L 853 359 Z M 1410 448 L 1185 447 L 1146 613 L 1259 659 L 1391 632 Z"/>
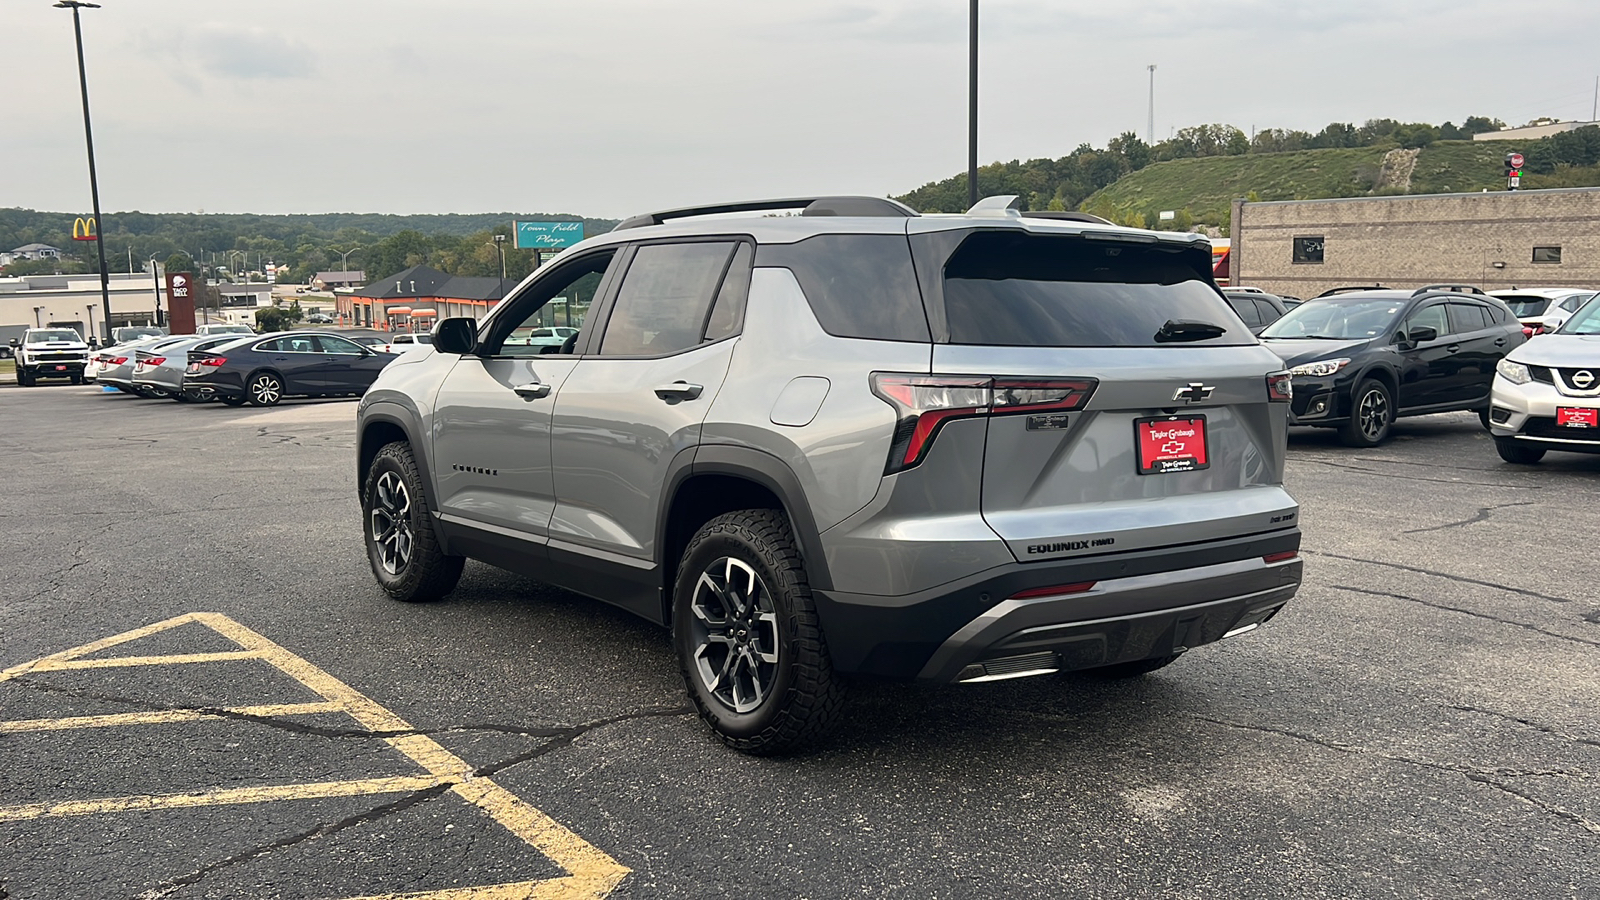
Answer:
<path fill-rule="evenodd" d="M 82 378 L 142 397 L 270 407 L 285 397 L 358 397 L 384 365 L 430 335 L 302 330 L 154 335 L 94 351 Z"/>

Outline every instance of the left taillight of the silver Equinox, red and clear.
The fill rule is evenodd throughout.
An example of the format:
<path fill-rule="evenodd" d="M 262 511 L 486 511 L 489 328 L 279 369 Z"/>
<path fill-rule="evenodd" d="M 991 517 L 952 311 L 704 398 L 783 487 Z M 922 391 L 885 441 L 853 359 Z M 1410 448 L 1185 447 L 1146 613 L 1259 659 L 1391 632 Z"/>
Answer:
<path fill-rule="evenodd" d="M 957 418 L 1078 410 L 1093 378 L 992 378 L 973 375 L 872 373 L 872 392 L 894 407 L 898 421 L 883 474 L 909 469 L 928 455 L 944 423 Z"/>

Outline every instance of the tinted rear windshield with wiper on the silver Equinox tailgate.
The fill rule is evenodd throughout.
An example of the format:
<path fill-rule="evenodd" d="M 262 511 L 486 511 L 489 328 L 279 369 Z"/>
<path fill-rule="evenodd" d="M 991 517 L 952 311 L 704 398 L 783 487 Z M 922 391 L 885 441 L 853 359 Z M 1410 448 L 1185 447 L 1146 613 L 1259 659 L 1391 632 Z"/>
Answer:
<path fill-rule="evenodd" d="M 944 264 L 955 344 L 1146 348 L 1253 344 L 1186 251 L 1016 232 L 970 235 Z M 1189 338 L 1160 336 L 1168 322 Z M 1202 328 L 1184 323 L 1198 323 Z M 1203 327 L 1213 328 L 1203 328 Z M 1168 328 L 1171 331 L 1171 328 Z"/>

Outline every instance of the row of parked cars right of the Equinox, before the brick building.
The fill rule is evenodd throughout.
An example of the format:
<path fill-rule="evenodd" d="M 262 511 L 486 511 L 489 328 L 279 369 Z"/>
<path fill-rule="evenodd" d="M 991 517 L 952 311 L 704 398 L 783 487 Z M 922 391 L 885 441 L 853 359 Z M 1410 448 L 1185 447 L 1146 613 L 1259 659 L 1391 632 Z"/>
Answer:
<path fill-rule="evenodd" d="M 1294 376 L 1291 424 L 1373 447 L 1400 416 L 1470 410 L 1509 463 L 1600 453 L 1594 290 L 1363 285 L 1293 306 L 1248 288 L 1226 296 L 1246 323 L 1246 312 L 1266 320 L 1251 331 Z"/>

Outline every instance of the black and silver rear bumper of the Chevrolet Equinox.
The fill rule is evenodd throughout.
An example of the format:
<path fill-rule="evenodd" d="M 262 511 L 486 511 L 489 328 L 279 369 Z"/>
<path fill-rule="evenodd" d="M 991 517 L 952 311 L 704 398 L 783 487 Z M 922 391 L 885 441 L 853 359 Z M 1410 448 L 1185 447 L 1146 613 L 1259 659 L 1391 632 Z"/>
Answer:
<path fill-rule="evenodd" d="M 1299 540 L 1290 528 L 1013 564 L 909 597 L 818 591 L 818 613 L 834 666 L 846 674 L 954 682 L 1085 669 L 1182 653 L 1272 618 L 1299 589 L 1302 564 L 1264 557 L 1298 551 Z M 1082 593 L 1011 599 L 1088 581 L 1094 586 Z"/>

